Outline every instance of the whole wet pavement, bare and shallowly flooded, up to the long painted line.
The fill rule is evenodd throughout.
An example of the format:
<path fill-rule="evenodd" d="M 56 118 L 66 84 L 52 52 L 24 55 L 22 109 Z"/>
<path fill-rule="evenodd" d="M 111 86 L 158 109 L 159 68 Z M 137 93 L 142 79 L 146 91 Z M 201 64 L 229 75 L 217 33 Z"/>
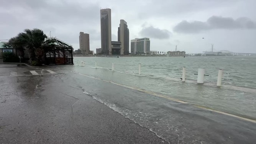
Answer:
<path fill-rule="evenodd" d="M 0 143 L 256 141 L 254 122 L 77 74 L 72 67 L 0 65 Z"/>

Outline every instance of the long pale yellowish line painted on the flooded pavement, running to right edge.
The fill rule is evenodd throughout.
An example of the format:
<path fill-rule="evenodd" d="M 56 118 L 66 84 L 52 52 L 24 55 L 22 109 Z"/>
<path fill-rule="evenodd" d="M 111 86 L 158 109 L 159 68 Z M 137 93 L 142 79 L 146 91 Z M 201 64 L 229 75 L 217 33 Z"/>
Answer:
<path fill-rule="evenodd" d="M 78 73 L 78 74 L 79 74 L 79 73 Z M 102 80 L 102 79 L 99 79 L 99 78 L 96 78 L 96 77 L 92 77 L 92 76 L 89 76 L 89 75 L 84 75 L 84 74 L 80 74 L 80 75 L 83 75 L 83 76 L 85 76 L 85 77 L 90 77 L 90 78 L 92 78 L 92 79 Z M 109 83 L 113 83 L 113 84 L 115 84 L 115 85 L 119 85 L 119 86 L 122 86 L 122 87 L 130 88 L 130 89 L 133 89 L 133 90 L 138 90 L 138 91 L 141 91 L 141 92 L 144 92 L 144 93 L 148 93 L 148 94 L 151 94 L 151 95 L 154 95 L 154 96 L 157 96 L 157 97 L 166 98 L 166 99 L 168 99 L 168 100 L 176 101 L 176 102 L 179 102 L 179 103 L 187 103 L 187 102 L 185 102 L 185 101 L 177 100 L 177 99 L 175 99 L 175 98 L 169 98 L 169 97 L 167 97 L 167 96 L 165 96 L 165 95 L 159 95 L 159 94 L 154 93 L 154 92 L 149 92 L 149 91 L 146 91 L 146 90 L 141 90 L 141 89 L 137 89 L 137 88 L 133 88 L 133 87 L 128 87 L 128 86 L 125 86 L 125 85 L 120 85 L 120 84 L 118 84 L 118 83 L 110 82 L 110 81 L 107 81 L 107 80 L 102 80 L 102 81 L 104 81 L 104 82 L 109 82 Z M 243 117 L 241 117 L 241 116 L 233 115 L 233 114 L 230 114 L 230 113 L 225 113 L 225 112 L 223 112 L 223 111 L 213 110 L 213 109 L 206 108 L 206 107 L 199 106 L 199 105 L 193 105 L 193 106 L 195 106 L 195 107 L 197 107 L 197 108 L 201 108 L 201 109 L 203 109 L 203 110 L 214 111 L 214 112 L 216 112 L 216 113 L 221 113 L 221 114 L 223 114 L 223 115 L 232 116 L 232 117 L 235 117 L 235 118 L 240 118 L 240 119 L 243 119 L 243 120 L 246 120 L 246 121 L 250 121 L 250 122 L 256 123 L 256 120 L 254 120 L 254 119 L 243 118 Z"/>

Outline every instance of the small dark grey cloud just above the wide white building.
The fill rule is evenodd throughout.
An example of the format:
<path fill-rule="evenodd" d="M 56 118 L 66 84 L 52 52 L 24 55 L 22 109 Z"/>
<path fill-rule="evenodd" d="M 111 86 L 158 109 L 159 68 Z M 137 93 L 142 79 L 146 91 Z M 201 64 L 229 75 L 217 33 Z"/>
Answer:
<path fill-rule="evenodd" d="M 171 35 L 171 32 L 167 29 L 154 28 L 153 26 L 143 28 L 139 33 L 143 37 L 155 39 L 168 39 Z"/>

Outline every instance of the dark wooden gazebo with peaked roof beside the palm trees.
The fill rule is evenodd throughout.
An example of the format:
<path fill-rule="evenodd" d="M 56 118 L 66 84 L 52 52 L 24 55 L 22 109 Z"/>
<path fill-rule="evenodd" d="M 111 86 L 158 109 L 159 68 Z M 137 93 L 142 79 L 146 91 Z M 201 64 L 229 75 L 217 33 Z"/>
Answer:
<path fill-rule="evenodd" d="M 74 64 L 72 55 L 73 47 L 70 44 L 53 37 L 48 39 L 54 40 L 54 43 L 44 45 L 44 64 Z"/>

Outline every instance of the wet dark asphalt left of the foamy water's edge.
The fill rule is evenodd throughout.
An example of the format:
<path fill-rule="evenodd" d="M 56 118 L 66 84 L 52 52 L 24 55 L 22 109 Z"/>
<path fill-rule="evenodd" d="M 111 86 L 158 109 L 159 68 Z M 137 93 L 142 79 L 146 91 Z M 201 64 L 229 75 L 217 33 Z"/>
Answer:
<path fill-rule="evenodd" d="M 0 72 L 3 69 L 9 68 Z M 85 95 L 80 87 L 68 82 L 58 87 L 59 80 L 67 79 L 62 76 L 0 78 L 1 144 L 167 143 Z"/>

